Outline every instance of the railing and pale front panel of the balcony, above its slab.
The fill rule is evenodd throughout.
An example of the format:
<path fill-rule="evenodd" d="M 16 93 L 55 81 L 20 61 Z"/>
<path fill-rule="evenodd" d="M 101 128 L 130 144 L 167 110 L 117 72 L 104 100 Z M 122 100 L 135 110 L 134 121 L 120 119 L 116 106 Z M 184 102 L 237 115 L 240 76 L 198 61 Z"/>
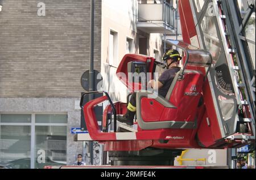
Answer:
<path fill-rule="evenodd" d="M 176 8 L 164 0 L 138 1 L 138 22 L 163 23 L 166 28 L 176 30 Z"/>

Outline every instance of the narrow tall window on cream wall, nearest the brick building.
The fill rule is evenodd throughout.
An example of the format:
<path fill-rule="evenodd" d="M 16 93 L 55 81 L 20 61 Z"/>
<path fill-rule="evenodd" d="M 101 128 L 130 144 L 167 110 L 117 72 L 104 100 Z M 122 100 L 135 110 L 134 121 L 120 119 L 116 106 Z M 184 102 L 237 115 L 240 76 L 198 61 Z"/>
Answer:
<path fill-rule="evenodd" d="M 118 66 L 118 33 L 112 30 L 109 34 L 109 65 Z"/>

